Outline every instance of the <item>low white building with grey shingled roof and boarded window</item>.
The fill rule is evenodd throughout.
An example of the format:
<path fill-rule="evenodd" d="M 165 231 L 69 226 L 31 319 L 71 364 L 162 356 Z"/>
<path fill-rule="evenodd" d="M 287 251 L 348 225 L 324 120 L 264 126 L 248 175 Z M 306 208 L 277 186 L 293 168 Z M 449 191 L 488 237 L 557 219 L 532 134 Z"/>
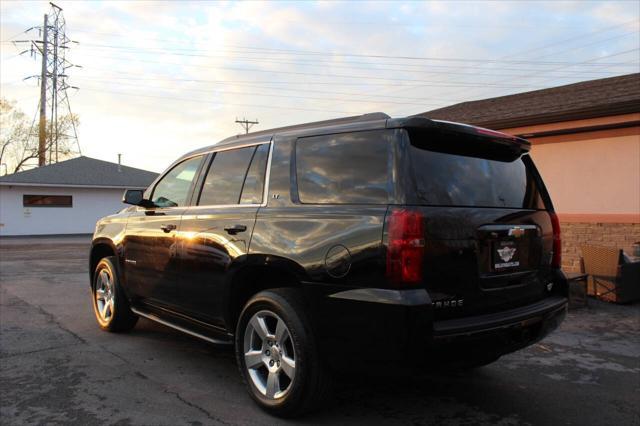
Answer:
<path fill-rule="evenodd" d="M 156 176 L 89 157 L 2 176 L 0 236 L 90 234 L 125 207 L 125 189 L 144 189 Z"/>

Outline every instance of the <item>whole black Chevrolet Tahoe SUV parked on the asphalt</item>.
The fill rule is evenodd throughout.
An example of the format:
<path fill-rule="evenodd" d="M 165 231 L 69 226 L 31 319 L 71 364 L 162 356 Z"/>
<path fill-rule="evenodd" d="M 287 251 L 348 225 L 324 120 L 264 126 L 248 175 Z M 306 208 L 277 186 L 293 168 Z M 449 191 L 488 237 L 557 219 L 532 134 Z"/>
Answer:
<path fill-rule="evenodd" d="M 566 312 L 558 218 L 529 150 L 374 113 L 190 152 L 97 223 L 95 316 L 234 345 L 251 397 L 282 416 L 353 366 L 488 364 Z"/>

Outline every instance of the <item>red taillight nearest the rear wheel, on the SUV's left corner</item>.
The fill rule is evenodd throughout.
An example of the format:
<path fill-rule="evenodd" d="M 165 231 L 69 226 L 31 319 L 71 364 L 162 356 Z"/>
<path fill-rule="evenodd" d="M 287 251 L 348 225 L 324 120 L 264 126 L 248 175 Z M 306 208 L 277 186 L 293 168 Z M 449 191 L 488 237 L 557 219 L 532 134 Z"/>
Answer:
<path fill-rule="evenodd" d="M 424 222 L 419 212 L 393 210 L 387 217 L 387 278 L 401 286 L 422 281 Z"/>

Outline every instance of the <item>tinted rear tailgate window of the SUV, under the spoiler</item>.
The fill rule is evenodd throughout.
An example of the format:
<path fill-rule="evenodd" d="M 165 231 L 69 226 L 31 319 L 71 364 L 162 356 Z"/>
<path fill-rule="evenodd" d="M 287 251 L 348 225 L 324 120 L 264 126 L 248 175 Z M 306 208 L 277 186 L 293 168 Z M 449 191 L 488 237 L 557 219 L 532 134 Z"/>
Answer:
<path fill-rule="evenodd" d="M 499 161 L 412 145 L 411 163 L 421 204 L 544 209 L 524 157 Z"/>

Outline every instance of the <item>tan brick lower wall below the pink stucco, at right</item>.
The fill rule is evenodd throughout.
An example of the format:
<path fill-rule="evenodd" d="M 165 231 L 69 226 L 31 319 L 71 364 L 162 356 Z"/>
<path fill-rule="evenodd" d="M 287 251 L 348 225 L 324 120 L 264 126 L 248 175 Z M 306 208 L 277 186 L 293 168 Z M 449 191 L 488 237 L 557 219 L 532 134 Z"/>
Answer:
<path fill-rule="evenodd" d="M 562 231 L 562 268 L 580 270 L 580 246 L 585 244 L 619 247 L 632 253 L 632 244 L 640 241 L 640 223 L 560 223 Z"/>

